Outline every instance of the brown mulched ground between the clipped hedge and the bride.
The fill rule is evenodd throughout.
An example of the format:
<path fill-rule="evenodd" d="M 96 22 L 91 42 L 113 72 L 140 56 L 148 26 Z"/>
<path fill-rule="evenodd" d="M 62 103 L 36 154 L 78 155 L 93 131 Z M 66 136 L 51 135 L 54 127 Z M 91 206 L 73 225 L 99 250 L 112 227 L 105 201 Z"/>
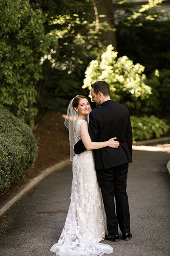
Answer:
<path fill-rule="evenodd" d="M 40 174 L 42 170 L 69 158 L 68 129 L 64 125 L 64 117 L 61 113 L 46 112 L 33 133 L 36 138 L 40 138 L 38 140 L 38 158 L 34 163 L 34 168 L 29 170 L 25 179 L 11 183 L 10 189 L 0 197 L 0 204 L 16 192 L 20 186 Z"/>

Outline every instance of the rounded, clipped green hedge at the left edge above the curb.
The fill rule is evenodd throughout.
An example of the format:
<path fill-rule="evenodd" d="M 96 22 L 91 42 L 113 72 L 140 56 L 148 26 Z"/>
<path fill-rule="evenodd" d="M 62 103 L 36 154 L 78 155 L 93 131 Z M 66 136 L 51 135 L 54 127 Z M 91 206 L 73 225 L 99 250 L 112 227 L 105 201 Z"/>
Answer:
<path fill-rule="evenodd" d="M 0 105 L 0 194 L 34 166 L 37 152 L 31 128 Z"/>

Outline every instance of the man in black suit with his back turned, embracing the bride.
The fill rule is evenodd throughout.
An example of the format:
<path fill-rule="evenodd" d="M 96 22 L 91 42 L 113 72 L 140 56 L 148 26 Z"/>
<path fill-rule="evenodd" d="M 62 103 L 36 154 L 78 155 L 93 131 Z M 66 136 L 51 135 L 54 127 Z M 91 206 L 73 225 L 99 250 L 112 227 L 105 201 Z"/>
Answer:
<path fill-rule="evenodd" d="M 92 100 L 101 107 L 90 113 L 88 131 L 94 142 L 116 137 L 120 143 L 119 148 L 105 147 L 94 150 L 97 180 L 102 191 L 109 232 L 105 239 L 118 242 L 118 224 L 123 240 L 130 240 L 132 236 L 126 193 L 128 163 L 132 162 L 132 127 L 127 106 L 110 99 L 109 91 L 105 81 L 91 84 Z M 74 145 L 75 153 L 81 153 L 82 147 L 84 145 L 79 140 Z"/>

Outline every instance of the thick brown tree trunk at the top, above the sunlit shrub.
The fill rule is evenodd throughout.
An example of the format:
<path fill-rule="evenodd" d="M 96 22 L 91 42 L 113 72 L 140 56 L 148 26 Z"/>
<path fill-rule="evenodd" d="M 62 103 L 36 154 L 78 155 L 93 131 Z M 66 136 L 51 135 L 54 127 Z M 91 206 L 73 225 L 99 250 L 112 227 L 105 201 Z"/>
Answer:
<path fill-rule="evenodd" d="M 94 4 L 94 12 L 96 15 L 96 23 L 107 22 L 109 24 L 107 31 L 100 29 L 99 38 L 105 46 L 112 44 L 116 50 L 116 32 L 114 30 L 114 8 L 112 0 L 92 0 Z M 100 17 L 104 15 L 104 17 Z"/>

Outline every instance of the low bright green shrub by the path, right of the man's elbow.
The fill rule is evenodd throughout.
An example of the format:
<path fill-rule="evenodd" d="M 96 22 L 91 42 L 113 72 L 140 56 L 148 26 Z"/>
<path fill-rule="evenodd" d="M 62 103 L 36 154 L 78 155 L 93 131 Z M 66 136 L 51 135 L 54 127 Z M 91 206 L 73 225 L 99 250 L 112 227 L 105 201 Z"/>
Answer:
<path fill-rule="evenodd" d="M 131 116 L 131 125 L 133 130 L 133 140 L 149 140 L 159 138 L 166 133 L 169 126 L 164 120 L 156 116 Z"/>

